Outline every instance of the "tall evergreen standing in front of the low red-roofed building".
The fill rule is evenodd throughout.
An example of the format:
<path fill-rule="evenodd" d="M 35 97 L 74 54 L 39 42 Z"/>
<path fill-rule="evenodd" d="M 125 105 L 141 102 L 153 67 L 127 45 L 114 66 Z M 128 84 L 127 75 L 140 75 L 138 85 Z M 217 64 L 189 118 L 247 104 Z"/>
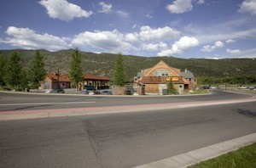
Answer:
<path fill-rule="evenodd" d="M 71 81 L 76 85 L 76 92 L 78 92 L 79 82 L 84 80 L 82 69 L 82 56 L 79 52 L 79 48 L 73 50 L 72 59 L 70 63 L 69 76 Z"/>

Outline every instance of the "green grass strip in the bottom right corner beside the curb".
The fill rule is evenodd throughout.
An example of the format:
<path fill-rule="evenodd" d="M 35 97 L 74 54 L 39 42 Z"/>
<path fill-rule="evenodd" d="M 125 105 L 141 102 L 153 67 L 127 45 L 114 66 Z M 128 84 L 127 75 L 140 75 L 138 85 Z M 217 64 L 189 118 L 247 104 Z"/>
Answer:
<path fill-rule="evenodd" d="M 203 161 L 189 168 L 253 168 L 256 167 L 256 143 L 234 152 L 221 155 L 212 160 Z"/>

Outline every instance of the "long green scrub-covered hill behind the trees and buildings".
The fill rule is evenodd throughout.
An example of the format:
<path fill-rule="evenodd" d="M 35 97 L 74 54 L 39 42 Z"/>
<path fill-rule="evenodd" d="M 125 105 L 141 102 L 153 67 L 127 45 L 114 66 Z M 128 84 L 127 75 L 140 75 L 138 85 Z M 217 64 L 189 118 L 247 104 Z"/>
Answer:
<path fill-rule="evenodd" d="M 0 50 L 4 58 L 8 58 L 12 52 L 17 52 L 24 67 L 32 60 L 37 50 Z M 49 52 L 38 50 L 45 60 L 45 69 L 51 72 L 67 74 L 69 62 L 73 53 L 72 49 Z M 114 58 L 112 53 L 82 53 L 84 73 L 100 76 L 113 76 Z M 160 60 L 172 67 L 185 70 L 188 69 L 195 76 L 256 76 L 256 60 L 254 59 L 179 59 L 175 57 L 141 57 L 124 55 L 127 79 L 132 80 L 137 72 L 150 68 Z"/>

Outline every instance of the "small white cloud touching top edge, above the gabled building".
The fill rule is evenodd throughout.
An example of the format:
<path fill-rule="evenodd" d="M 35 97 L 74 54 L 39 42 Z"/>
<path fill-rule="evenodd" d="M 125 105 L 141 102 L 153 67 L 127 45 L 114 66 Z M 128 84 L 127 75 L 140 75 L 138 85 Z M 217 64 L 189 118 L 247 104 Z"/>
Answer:
<path fill-rule="evenodd" d="M 172 14 L 183 14 L 192 10 L 192 0 L 176 0 L 166 8 Z"/>

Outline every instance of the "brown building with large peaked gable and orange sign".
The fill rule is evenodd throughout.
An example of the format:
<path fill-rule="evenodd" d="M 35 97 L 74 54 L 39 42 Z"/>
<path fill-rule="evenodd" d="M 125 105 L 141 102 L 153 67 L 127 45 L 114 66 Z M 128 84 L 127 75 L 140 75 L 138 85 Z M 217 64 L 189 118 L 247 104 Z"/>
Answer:
<path fill-rule="evenodd" d="M 190 82 L 181 76 L 181 70 L 170 67 L 164 61 L 142 70 L 135 77 L 135 83 L 144 86 L 146 93 L 164 93 L 171 80 L 179 94 L 189 92 L 192 88 Z"/>

